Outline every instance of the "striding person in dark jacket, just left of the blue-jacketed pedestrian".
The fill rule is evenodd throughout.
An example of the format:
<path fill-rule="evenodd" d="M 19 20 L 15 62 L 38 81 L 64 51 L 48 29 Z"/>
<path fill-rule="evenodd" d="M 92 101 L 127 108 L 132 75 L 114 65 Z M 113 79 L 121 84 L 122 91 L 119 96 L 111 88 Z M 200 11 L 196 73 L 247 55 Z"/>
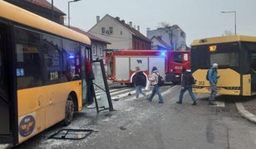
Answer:
<path fill-rule="evenodd" d="M 194 84 L 194 78 L 190 72 L 188 72 L 185 68 L 182 69 L 181 74 L 181 90 L 180 90 L 180 100 L 177 103 L 182 103 L 182 98 L 186 90 L 189 91 L 190 97 L 193 100 L 193 105 L 197 104 L 197 100 L 194 97 L 192 92 L 192 84 Z"/>

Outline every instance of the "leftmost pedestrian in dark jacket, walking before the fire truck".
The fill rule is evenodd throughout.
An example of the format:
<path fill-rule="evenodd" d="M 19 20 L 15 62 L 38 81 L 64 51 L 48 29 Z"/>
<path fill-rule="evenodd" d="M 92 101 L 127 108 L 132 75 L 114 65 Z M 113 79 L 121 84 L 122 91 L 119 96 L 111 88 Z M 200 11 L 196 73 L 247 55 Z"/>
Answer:
<path fill-rule="evenodd" d="M 135 68 L 135 75 L 132 77 L 132 83 L 135 85 L 136 89 L 136 99 L 139 98 L 139 94 L 143 94 L 146 97 L 146 94 L 142 91 L 142 86 L 145 86 L 146 78 L 143 72 L 140 70 L 140 67 Z"/>

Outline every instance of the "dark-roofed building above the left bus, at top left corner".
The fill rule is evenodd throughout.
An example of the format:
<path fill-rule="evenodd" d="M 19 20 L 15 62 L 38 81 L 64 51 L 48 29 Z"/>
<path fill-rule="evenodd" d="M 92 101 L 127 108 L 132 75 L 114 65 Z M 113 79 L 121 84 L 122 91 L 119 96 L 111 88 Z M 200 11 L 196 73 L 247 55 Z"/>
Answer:
<path fill-rule="evenodd" d="M 41 17 L 45 17 L 52 20 L 52 3 L 47 0 L 4 0 L 10 2 L 17 7 L 22 7 L 29 12 L 33 12 Z M 64 25 L 64 16 L 66 14 L 59 10 L 57 7 L 53 7 L 54 22 Z"/>

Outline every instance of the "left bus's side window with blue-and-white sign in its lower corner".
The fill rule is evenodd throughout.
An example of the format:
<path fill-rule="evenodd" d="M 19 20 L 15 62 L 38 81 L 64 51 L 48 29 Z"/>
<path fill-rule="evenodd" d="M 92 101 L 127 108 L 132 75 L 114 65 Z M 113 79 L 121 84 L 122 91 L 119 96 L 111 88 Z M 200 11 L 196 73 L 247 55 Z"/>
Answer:
<path fill-rule="evenodd" d="M 15 28 L 15 41 L 17 89 L 42 85 L 42 53 L 40 53 L 38 47 L 40 45 L 40 34 Z"/>

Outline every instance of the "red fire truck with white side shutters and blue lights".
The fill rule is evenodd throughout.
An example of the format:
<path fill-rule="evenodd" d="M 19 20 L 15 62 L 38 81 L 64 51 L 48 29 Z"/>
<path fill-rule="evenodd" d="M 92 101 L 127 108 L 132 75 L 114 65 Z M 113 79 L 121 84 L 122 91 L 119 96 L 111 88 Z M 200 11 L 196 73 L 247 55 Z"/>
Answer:
<path fill-rule="evenodd" d="M 109 79 L 130 84 L 136 66 L 146 77 L 156 66 L 165 82 L 179 83 L 182 68 L 190 70 L 190 51 L 106 50 L 106 73 Z"/>

